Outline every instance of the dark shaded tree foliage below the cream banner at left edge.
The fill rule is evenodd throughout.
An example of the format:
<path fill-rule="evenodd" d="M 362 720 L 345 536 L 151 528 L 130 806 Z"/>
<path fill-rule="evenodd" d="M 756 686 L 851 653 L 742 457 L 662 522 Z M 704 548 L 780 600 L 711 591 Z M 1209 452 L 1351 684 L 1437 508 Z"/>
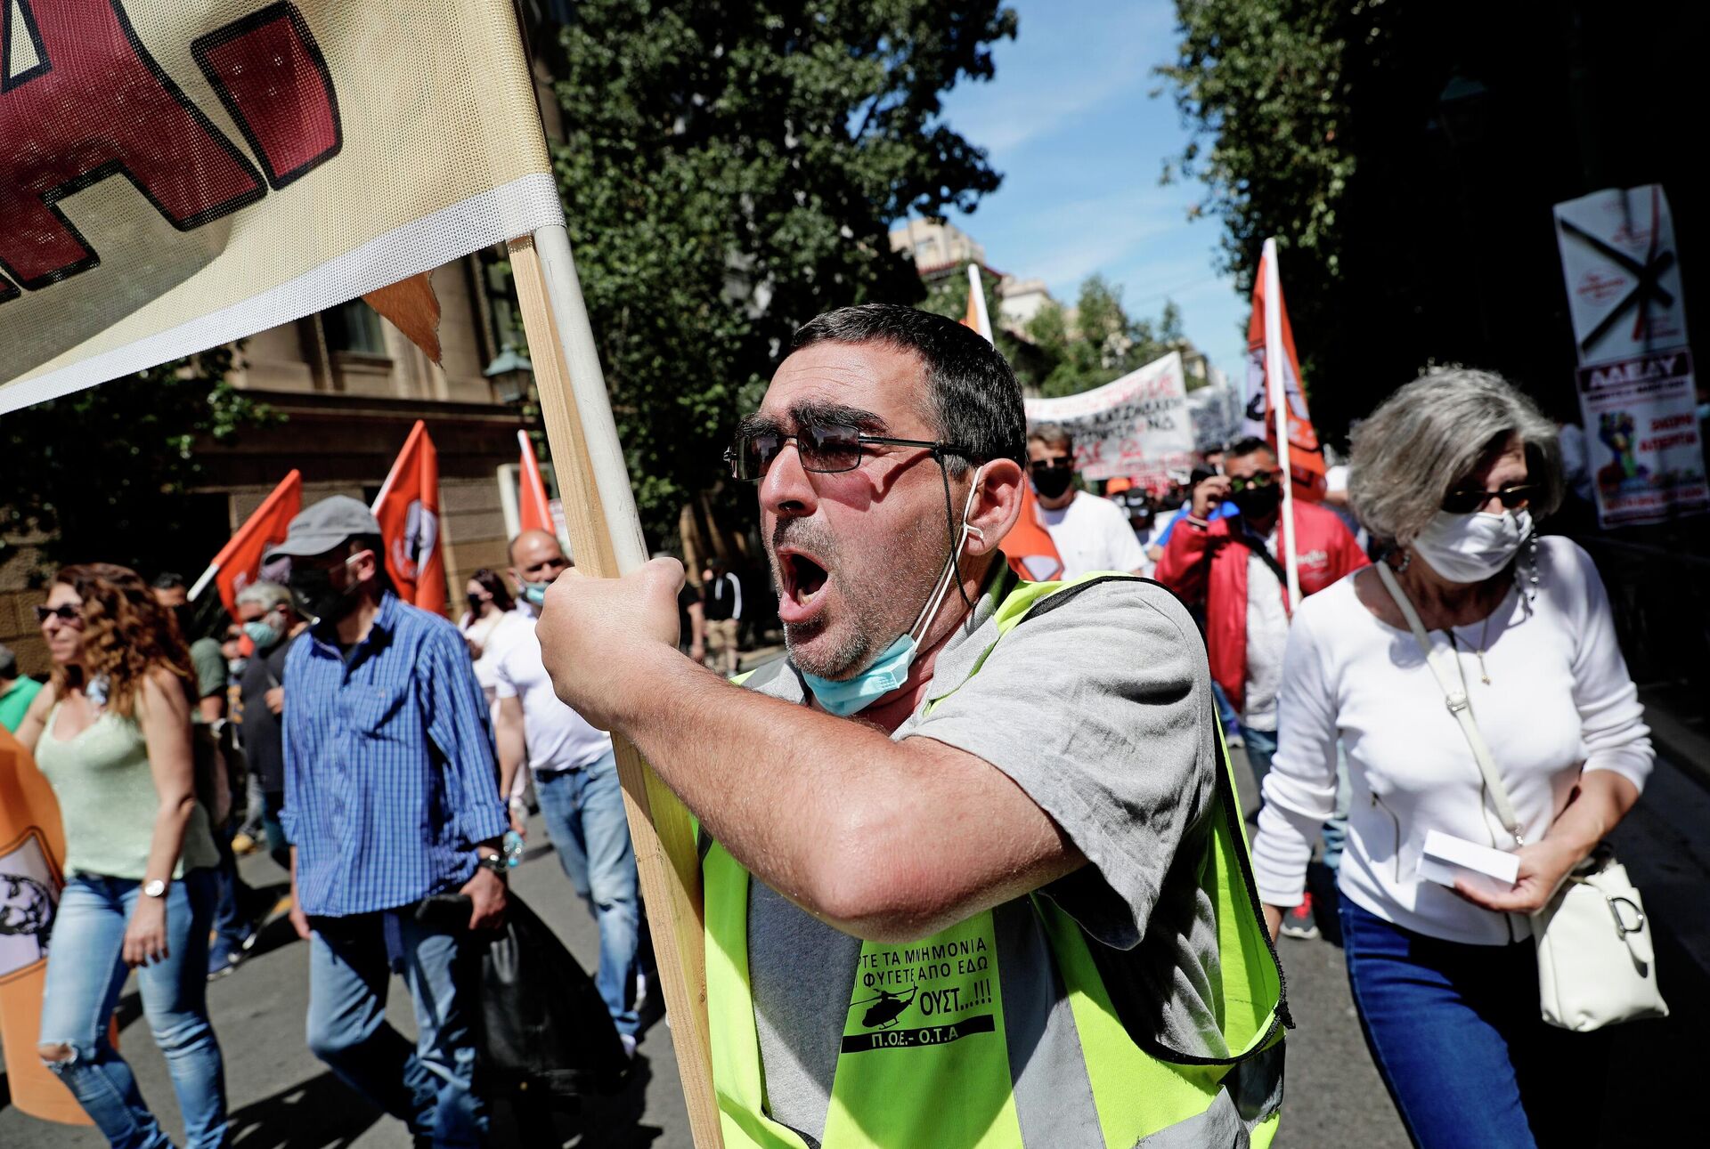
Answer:
<path fill-rule="evenodd" d="M 104 561 L 149 576 L 212 559 L 185 554 L 200 537 L 195 448 L 277 417 L 226 381 L 231 364 L 231 347 L 215 347 L 0 419 L 0 563 L 21 540 L 48 568 Z"/>

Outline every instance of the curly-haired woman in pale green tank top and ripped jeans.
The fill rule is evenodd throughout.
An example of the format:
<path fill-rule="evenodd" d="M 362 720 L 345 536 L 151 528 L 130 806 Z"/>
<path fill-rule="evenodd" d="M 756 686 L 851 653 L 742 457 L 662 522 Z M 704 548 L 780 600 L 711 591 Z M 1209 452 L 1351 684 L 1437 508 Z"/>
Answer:
<path fill-rule="evenodd" d="M 41 1058 L 113 1146 L 171 1146 L 108 1043 L 135 968 L 188 1146 L 226 1146 L 226 1074 L 205 999 L 219 853 L 195 797 L 190 653 L 123 566 L 67 566 L 36 614 L 53 677 L 17 734 L 60 800 L 67 874 Z"/>

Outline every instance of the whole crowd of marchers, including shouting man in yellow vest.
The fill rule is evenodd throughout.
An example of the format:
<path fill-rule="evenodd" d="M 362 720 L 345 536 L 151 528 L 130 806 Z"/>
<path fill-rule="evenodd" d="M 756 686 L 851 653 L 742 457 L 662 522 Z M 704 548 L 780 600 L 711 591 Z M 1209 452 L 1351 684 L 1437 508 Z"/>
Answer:
<path fill-rule="evenodd" d="M 190 1144 L 227 1144 L 205 983 L 268 908 L 234 840 L 291 872 L 310 1048 L 419 1144 L 475 1146 L 487 1122 L 470 966 L 530 805 L 598 922 L 598 993 L 633 1053 L 645 946 L 610 732 L 699 824 L 728 1146 L 1269 1144 L 1291 1021 L 1274 939 L 1325 913 L 1320 833 L 1414 1142 L 1587 1127 L 1607 1031 L 1542 1021 L 1532 915 L 1636 802 L 1652 749 L 1595 568 L 1539 530 L 1561 451 L 1517 388 L 1465 369 L 1402 386 L 1325 503 L 1284 499 L 1274 450 L 1243 439 L 1135 523 L 1077 487 L 1069 433 L 1026 426 L 985 340 L 869 304 L 797 333 L 728 460 L 788 646 L 735 682 L 723 568 L 699 593 L 672 561 L 578 578 L 525 532 L 453 624 L 398 600 L 349 498 L 291 523 L 267 556 L 284 583 L 239 593 L 238 669 L 222 636 L 186 645 L 181 580 L 55 576 L 51 675 L 17 696 L 0 657 L 0 715 L 67 831 L 39 1052 L 111 1144 L 169 1144 L 108 1040 L 130 969 Z M 1057 547 L 1050 583 L 1002 554 L 1023 513 Z M 198 769 L 231 720 L 248 804 Z M 1250 857 L 1224 744 L 1260 787 Z M 1430 836 L 1513 853 L 1517 877 L 1442 884 Z M 917 963 L 934 947 L 990 958 Z M 911 988 L 864 988 L 876 968 Z M 393 973 L 414 1043 L 385 1021 Z"/>

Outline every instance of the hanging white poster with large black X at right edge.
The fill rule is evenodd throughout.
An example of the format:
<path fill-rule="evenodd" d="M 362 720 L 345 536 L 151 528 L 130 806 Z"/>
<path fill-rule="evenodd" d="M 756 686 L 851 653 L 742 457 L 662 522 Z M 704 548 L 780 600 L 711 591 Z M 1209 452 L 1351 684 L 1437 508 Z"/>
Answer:
<path fill-rule="evenodd" d="M 1710 510 L 1674 221 L 1660 185 L 1556 203 L 1604 527 Z"/>

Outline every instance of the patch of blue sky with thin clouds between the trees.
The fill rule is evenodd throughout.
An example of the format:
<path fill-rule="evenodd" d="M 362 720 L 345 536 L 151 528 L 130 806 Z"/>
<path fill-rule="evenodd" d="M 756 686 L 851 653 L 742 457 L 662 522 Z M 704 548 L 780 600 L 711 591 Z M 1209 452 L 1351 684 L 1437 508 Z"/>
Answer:
<path fill-rule="evenodd" d="M 1165 299 L 1231 378 L 1245 373 L 1248 301 L 1218 272 L 1221 224 L 1188 221 L 1204 186 L 1159 186 L 1163 161 L 1187 130 L 1153 67 L 1175 58 L 1168 0 L 1014 0 L 1016 39 L 994 50 L 997 77 L 963 80 L 946 120 L 985 147 L 1004 185 L 951 222 L 985 245 L 987 262 L 1043 279 L 1074 303 L 1098 272 L 1122 287 L 1130 315 L 1156 316 Z"/>

